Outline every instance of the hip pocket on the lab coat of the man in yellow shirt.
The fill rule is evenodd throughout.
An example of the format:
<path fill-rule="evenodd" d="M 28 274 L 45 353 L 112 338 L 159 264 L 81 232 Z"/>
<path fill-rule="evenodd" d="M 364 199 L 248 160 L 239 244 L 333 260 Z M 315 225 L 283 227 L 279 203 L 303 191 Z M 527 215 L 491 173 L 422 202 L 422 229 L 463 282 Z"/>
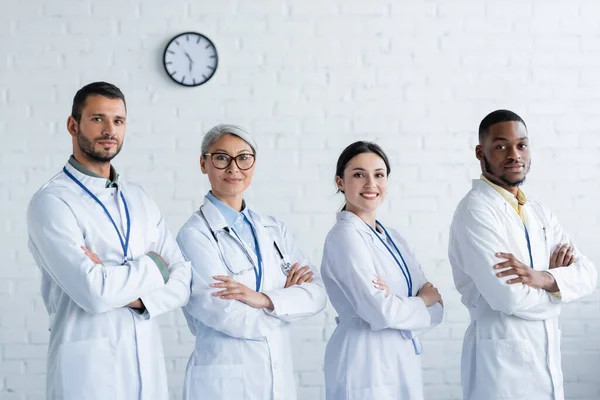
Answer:
<path fill-rule="evenodd" d="M 488 396 L 531 399 L 533 354 L 526 340 L 479 339 L 477 353 L 477 386 Z"/>

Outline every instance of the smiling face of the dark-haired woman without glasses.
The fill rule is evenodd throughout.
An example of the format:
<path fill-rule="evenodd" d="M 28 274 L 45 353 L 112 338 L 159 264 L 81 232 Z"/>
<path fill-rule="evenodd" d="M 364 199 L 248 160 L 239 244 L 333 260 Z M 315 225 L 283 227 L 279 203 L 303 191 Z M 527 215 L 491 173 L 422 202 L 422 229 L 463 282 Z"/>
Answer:
<path fill-rule="evenodd" d="M 387 195 L 386 164 L 375 153 L 358 154 L 346 165 L 344 176 L 336 177 L 336 184 L 346 196 L 346 210 L 371 219 L 364 217 L 374 217 Z"/>

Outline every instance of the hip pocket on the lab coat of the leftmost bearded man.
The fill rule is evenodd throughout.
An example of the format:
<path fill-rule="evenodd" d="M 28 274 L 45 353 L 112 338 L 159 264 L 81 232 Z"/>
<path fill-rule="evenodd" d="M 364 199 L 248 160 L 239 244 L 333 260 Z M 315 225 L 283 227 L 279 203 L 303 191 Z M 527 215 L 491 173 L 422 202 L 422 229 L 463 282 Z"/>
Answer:
<path fill-rule="evenodd" d="M 108 338 L 64 343 L 60 346 L 63 398 L 115 398 L 115 350 Z"/>

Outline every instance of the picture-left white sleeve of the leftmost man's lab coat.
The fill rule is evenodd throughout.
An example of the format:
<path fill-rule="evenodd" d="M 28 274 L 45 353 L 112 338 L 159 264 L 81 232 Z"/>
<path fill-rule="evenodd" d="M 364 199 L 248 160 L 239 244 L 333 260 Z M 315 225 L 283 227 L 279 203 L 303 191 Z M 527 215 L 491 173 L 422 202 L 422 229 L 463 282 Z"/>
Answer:
<path fill-rule="evenodd" d="M 159 269 L 148 256 L 126 265 L 94 264 L 81 249 L 89 245 L 75 215 L 56 196 L 38 194 L 32 199 L 27 228 L 29 248 L 40 268 L 86 312 L 126 306 L 164 286 Z"/>

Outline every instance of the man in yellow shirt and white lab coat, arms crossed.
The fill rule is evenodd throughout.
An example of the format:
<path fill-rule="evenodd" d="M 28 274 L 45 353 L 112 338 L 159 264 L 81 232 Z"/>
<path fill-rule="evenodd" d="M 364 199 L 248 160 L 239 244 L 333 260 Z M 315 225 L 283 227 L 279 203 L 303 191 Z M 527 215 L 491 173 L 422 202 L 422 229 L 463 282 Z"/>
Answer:
<path fill-rule="evenodd" d="M 476 156 L 482 176 L 457 207 L 448 250 L 471 316 L 464 399 L 564 399 L 558 316 L 563 302 L 593 292 L 596 269 L 520 189 L 531 164 L 521 117 L 486 116 Z"/>

